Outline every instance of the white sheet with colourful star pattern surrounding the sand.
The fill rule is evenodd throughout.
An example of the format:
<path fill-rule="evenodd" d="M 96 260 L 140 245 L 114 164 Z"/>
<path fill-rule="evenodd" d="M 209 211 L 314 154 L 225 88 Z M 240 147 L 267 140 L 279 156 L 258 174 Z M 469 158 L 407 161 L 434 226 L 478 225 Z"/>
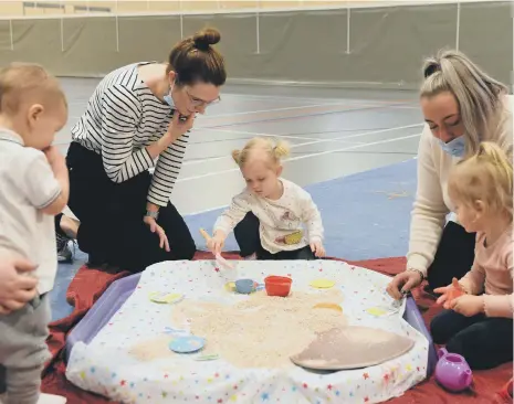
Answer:
<path fill-rule="evenodd" d="M 187 299 L 238 301 L 248 296 L 230 293 L 225 284 L 239 278 L 262 281 L 268 275 L 291 276 L 294 290 L 321 293 L 315 279 L 335 281 L 344 294 L 343 310 L 352 325 L 382 328 L 412 338 L 411 351 L 377 366 L 332 374 L 237 369 L 223 358 L 199 360 L 202 351 L 140 362 L 130 347 L 159 336 L 183 336 L 171 325 L 174 305 L 151 302 L 148 294 L 177 293 Z M 81 389 L 124 403 L 379 403 L 426 378 L 428 341 L 402 318 L 405 305 L 394 315 L 385 293 L 389 278 L 340 262 L 240 262 L 237 269 L 216 262 L 168 262 L 146 269 L 135 293 L 93 341 L 76 343 L 67 379 Z M 187 325 L 183 325 L 187 328 Z M 171 330 L 171 331 L 170 331 Z M 284 330 L 285 332 L 285 330 Z M 203 336 L 199 336 L 203 337 Z M 209 343 L 209 341 L 206 341 Z M 343 348 L 344 349 L 344 348 Z"/>

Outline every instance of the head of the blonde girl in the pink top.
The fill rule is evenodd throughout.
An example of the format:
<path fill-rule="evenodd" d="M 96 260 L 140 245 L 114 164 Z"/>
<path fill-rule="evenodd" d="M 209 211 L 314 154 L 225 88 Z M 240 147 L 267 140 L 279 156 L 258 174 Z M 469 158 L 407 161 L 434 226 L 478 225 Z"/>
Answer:
<path fill-rule="evenodd" d="M 482 201 L 487 211 L 507 213 L 512 220 L 512 161 L 499 145 L 484 141 L 476 153 L 452 169 L 448 191 L 459 202 L 474 208 Z"/>

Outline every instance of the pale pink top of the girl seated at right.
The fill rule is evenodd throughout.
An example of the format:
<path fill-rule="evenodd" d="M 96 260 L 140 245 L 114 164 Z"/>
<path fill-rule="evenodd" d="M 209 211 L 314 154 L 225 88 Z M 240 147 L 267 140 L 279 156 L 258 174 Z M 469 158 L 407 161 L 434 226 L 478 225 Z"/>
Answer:
<path fill-rule="evenodd" d="M 512 224 L 492 245 L 485 234 L 476 234 L 473 267 L 459 280 L 470 295 L 484 293 L 487 317 L 513 317 L 513 232 Z"/>

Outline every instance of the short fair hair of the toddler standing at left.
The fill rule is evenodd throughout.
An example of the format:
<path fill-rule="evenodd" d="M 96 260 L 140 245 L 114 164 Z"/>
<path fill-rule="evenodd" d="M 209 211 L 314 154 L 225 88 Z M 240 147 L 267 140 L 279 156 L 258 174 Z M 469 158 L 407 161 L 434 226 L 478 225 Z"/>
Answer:
<path fill-rule="evenodd" d="M 13 115 L 22 103 L 31 100 L 42 105 L 64 103 L 66 97 L 59 84 L 44 67 L 34 63 L 11 63 L 0 70 L 0 113 Z"/>

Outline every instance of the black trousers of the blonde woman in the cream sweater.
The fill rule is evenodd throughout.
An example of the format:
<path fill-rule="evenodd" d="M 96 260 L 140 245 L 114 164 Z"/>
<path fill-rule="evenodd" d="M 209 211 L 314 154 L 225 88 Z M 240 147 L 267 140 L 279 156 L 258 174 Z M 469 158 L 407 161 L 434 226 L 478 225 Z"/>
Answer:
<path fill-rule="evenodd" d="M 427 272 L 427 280 L 431 289 L 448 286 L 453 277 L 460 279 L 471 269 L 475 236 L 475 233 L 468 233 L 460 224 L 448 222 L 433 263 Z"/>

